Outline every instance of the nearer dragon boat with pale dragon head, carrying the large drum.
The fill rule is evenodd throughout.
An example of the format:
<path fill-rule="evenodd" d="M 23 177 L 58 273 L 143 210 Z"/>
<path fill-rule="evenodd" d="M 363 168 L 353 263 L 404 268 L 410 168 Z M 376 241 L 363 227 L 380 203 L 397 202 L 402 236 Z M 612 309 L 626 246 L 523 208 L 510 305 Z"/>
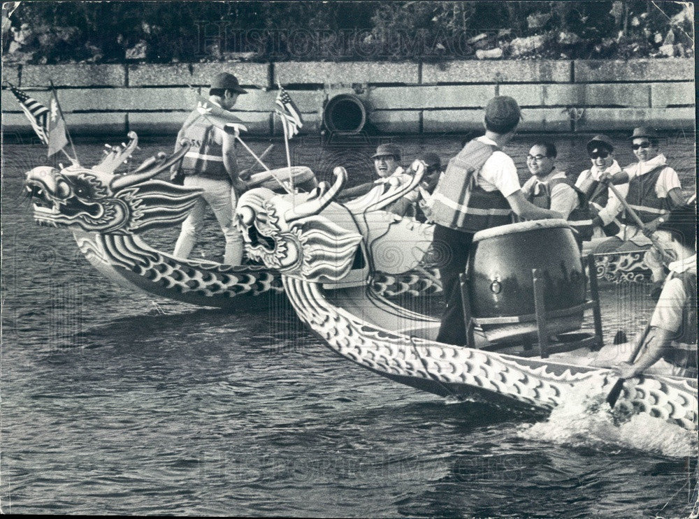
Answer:
<path fill-rule="evenodd" d="M 380 251 L 390 251 L 408 270 L 428 250 L 424 224 L 389 220 L 381 210 L 415 188 L 423 166 L 413 167 L 410 182 L 382 184 L 343 204 L 334 201 L 347 178 L 340 167 L 332 185 L 322 182 L 310 193 L 247 191 L 237 208 L 247 253 L 280 272 L 296 314 L 332 351 L 398 383 L 540 411 L 591 386 L 609 393 L 618 379 L 596 361 L 628 349 L 603 345 L 596 268 L 592 258 L 581 259 L 563 220 L 475 236 L 463 283 L 464 306 L 473 316 L 466 345 L 437 342 L 438 320 L 373 289 Z M 595 329 L 581 332 L 587 311 Z M 626 382 L 617 408 L 694 430 L 697 405 L 696 379 L 647 375 Z"/>

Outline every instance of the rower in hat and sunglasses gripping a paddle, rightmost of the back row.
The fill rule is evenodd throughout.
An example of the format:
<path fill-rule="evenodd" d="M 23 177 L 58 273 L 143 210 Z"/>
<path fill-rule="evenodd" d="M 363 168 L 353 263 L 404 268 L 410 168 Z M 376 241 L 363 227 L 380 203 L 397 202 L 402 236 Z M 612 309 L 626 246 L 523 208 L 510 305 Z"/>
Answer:
<path fill-rule="evenodd" d="M 635 219 L 628 212 L 622 212 L 623 206 L 617 200 L 617 204 L 610 207 L 609 214 L 619 214 L 619 221 L 624 224 L 619 237 L 624 241 L 643 232 L 653 232 L 672 208 L 685 203 L 679 175 L 668 166 L 665 155 L 660 153 L 656 131 L 647 126 L 635 128 L 631 136 L 631 148 L 638 162 L 626 166 L 621 173 L 612 175 L 612 183 L 619 184 L 617 191 L 626 198 L 645 228 L 638 228 Z M 655 283 L 654 292 L 657 295 L 665 277 L 660 254 L 649 249 L 644 261 L 651 269 L 651 279 Z"/>

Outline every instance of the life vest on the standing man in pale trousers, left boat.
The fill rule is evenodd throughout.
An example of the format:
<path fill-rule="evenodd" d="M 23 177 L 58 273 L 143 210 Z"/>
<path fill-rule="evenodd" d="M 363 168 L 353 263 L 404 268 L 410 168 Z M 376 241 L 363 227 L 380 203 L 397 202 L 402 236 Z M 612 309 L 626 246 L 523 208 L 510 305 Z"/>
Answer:
<path fill-rule="evenodd" d="M 192 119 L 194 123 L 190 124 Z M 230 182 L 231 177 L 223 165 L 223 147 L 213 139 L 215 126 L 194 110 L 183 128 L 182 138 L 187 139 L 192 147 L 182 159 L 182 173 Z"/>

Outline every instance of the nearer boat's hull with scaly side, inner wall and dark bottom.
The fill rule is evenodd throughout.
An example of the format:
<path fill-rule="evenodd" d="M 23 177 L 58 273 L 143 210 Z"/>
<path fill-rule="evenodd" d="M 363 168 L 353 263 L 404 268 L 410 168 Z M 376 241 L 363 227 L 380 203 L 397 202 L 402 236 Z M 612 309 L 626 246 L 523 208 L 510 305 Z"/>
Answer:
<path fill-rule="evenodd" d="M 318 284 L 282 279 L 298 316 L 331 350 L 419 390 L 550 411 L 581 388 L 597 388 L 601 396 L 617 381 L 612 370 L 590 365 L 441 344 L 433 339 L 438 321 L 369 296 L 362 287 L 329 297 Z M 697 381 L 640 377 L 624 385 L 617 407 L 696 430 Z"/>

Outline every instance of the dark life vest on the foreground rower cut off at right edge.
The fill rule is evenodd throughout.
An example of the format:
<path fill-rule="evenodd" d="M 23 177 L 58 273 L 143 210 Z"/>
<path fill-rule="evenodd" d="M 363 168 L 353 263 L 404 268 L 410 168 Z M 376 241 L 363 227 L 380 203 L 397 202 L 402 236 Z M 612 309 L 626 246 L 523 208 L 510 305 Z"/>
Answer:
<path fill-rule="evenodd" d="M 671 279 L 681 279 L 687 300 L 682 307 L 682 325 L 672 337 L 672 348 L 663 359 L 677 367 L 697 367 L 697 275 L 696 272 L 672 272 Z M 685 375 L 686 376 L 686 375 Z"/>

